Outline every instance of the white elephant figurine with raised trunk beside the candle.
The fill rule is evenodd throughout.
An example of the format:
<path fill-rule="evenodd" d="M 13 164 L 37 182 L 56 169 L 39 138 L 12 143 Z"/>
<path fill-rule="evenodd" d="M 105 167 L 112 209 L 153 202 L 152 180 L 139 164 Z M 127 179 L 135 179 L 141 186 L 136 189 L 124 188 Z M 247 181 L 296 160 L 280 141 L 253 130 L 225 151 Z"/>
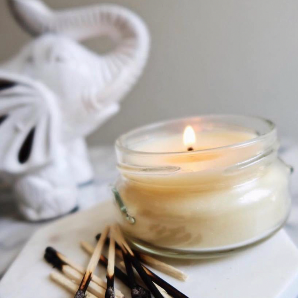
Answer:
<path fill-rule="evenodd" d="M 36 36 L 0 65 L 0 176 L 21 213 L 53 218 L 77 206 L 77 185 L 93 178 L 85 137 L 119 110 L 148 58 L 144 22 L 117 5 L 52 11 L 37 0 L 8 0 Z M 99 55 L 78 41 L 108 36 Z"/>

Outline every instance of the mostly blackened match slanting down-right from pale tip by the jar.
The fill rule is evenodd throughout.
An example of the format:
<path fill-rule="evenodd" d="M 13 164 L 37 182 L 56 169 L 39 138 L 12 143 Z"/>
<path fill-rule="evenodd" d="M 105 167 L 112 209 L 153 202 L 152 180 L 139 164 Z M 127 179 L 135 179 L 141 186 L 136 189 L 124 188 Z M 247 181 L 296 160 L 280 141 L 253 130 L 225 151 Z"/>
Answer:
<path fill-rule="evenodd" d="M 122 253 L 125 254 L 125 256 L 131 261 L 136 271 L 139 273 L 139 276 L 149 289 L 149 291 L 153 294 L 155 298 L 164 298 L 160 291 L 156 288 L 156 285 L 152 282 L 151 278 L 148 274 L 146 274 L 144 268 L 142 267 L 142 264 L 140 261 L 134 256 L 134 253 L 126 243 L 125 239 L 123 238 L 121 232 L 119 229 L 117 229 L 116 226 L 112 227 L 114 237 L 116 242 L 121 247 Z"/>

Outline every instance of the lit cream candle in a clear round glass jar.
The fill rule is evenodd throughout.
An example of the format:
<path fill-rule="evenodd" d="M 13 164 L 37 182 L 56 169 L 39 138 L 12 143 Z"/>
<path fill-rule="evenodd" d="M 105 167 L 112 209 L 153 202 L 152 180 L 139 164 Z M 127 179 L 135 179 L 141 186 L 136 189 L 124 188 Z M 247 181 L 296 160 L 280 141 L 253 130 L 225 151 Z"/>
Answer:
<path fill-rule="evenodd" d="M 271 121 L 203 116 L 119 137 L 118 221 L 139 249 L 210 257 L 267 238 L 290 209 L 290 168 Z"/>

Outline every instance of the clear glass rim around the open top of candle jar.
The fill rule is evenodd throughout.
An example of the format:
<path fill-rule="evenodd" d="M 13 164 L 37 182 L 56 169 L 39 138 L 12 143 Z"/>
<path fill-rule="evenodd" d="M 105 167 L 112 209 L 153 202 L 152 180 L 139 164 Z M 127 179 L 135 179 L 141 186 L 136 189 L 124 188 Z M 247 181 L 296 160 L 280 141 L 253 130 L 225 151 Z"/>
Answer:
<path fill-rule="evenodd" d="M 250 125 L 242 125 L 243 128 L 253 128 L 253 125 L 251 125 L 252 122 L 259 122 L 262 125 L 266 126 L 266 131 L 263 133 L 257 134 L 256 137 L 253 137 L 251 139 L 248 139 L 243 142 L 237 142 L 234 144 L 230 145 L 224 145 L 224 146 L 218 146 L 218 147 L 212 147 L 212 148 L 207 148 L 207 149 L 197 149 L 197 150 L 192 150 L 192 151 L 140 151 L 140 150 L 134 150 L 132 148 L 129 148 L 128 145 L 125 145 L 125 141 L 133 138 L 137 135 L 142 135 L 146 134 L 146 132 L 158 128 L 163 128 L 166 125 L 171 125 L 174 123 L 180 123 L 180 122 L 185 122 L 184 125 L 185 127 L 188 125 L 187 123 L 191 123 L 193 121 L 201 121 L 203 123 L 203 120 L 209 120 L 209 122 L 212 121 L 218 121 L 218 123 L 225 123 L 225 120 L 237 120 L 237 121 L 248 121 Z M 221 121 L 220 121 L 221 120 Z M 237 149 L 237 148 L 242 148 L 246 147 L 249 145 L 252 145 L 256 142 L 264 142 L 268 140 L 272 140 L 272 143 L 274 143 L 277 140 L 277 132 L 276 132 L 276 125 L 274 122 L 272 122 L 269 119 L 259 117 L 259 116 L 245 116 L 245 115 L 238 115 L 238 114 L 211 114 L 211 115 L 200 115 L 200 116 L 192 116 L 192 117 L 183 117 L 183 118 L 176 118 L 176 119 L 168 119 L 165 121 L 159 121 L 159 122 L 153 122 L 147 125 L 143 125 L 139 128 L 132 129 L 128 131 L 125 134 L 122 134 L 116 139 L 115 142 L 115 148 L 116 150 L 119 150 L 123 153 L 127 154 L 134 154 L 134 155 L 150 155 L 150 156 L 156 156 L 156 155 L 162 155 L 162 156 L 167 156 L 167 155 L 193 155 L 193 154 L 204 154 L 204 153 L 212 153 L 216 150 L 223 150 L 223 149 Z M 271 143 L 271 142 L 270 142 Z"/>

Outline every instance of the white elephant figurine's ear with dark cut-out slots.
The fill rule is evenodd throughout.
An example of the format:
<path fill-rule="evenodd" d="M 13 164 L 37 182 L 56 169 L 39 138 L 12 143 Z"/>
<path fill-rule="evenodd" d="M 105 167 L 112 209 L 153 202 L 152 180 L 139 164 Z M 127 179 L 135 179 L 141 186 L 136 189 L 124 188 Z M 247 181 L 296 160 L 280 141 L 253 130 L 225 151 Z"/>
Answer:
<path fill-rule="evenodd" d="M 0 72 L 0 171 L 23 173 L 53 159 L 60 139 L 56 103 L 44 85 Z"/>

